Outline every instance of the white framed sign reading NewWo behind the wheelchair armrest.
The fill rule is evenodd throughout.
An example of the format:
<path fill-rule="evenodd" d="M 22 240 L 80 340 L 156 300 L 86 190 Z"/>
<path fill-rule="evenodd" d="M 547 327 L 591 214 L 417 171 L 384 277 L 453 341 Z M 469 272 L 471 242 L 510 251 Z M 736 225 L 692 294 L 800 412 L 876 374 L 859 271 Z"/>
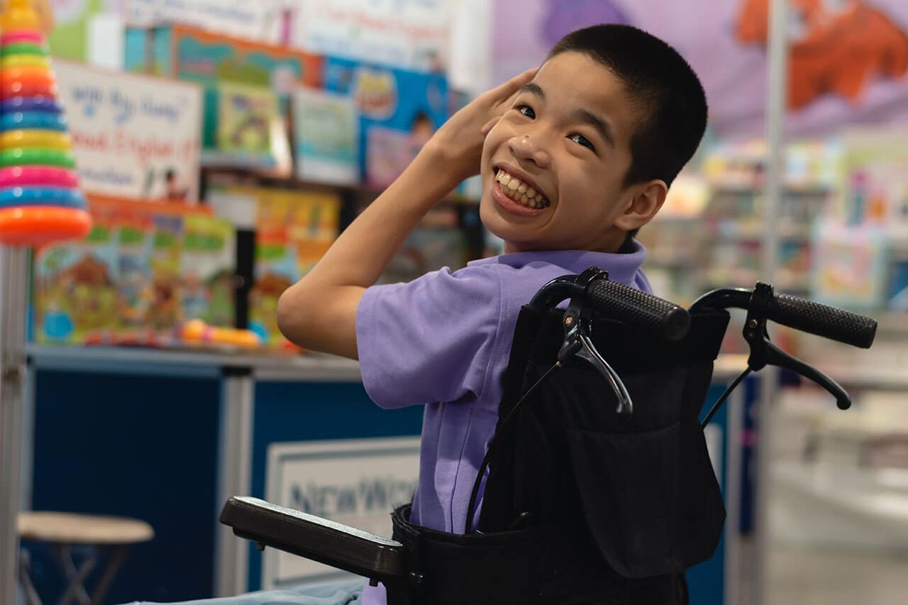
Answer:
<path fill-rule="evenodd" d="M 390 537 L 389 512 L 413 497 L 419 437 L 272 443 L 265 499 Z M 281 550 L 262 557 L 262 589 L 346 577 Z"/>

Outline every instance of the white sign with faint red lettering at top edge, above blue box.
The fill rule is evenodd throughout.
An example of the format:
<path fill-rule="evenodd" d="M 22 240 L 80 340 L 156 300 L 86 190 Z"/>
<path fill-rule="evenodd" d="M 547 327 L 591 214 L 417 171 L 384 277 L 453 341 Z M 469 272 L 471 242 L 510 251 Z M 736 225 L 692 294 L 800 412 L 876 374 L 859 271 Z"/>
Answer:
<path fill-rule="evenodd" d="M 318 55 L 443 72 L 447 0 L 296 0 L 293 43 Z"/>

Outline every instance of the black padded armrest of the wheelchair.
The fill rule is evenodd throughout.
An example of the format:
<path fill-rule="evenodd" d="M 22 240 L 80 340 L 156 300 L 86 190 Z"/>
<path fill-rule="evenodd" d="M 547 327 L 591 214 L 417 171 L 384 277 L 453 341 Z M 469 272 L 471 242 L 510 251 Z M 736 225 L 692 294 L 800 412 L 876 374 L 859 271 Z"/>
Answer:
<path fill-rule="evenodd" d="M 395 580 L 405 574 L 406 552 L 399 541 L 258 498 L 234 496 L 224 504 L 221 522 L 241 538 L 370 580 Z"/>

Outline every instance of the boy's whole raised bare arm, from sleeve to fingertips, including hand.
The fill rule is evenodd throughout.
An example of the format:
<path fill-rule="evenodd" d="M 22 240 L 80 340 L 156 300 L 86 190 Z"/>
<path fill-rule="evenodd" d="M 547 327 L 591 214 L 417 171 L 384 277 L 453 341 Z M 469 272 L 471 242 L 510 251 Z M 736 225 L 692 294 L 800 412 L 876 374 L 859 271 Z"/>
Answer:
<path fill-rule="evenodd" d="M 454 114 L 416 159 L 338 237 L 327 253 L 278 302 L 278 326 L 291 342 L 357 358 L 356 310 L 391 258 L 432 206 L 477 174 L 482 143 L 535 74 L 519 74 Z"/>

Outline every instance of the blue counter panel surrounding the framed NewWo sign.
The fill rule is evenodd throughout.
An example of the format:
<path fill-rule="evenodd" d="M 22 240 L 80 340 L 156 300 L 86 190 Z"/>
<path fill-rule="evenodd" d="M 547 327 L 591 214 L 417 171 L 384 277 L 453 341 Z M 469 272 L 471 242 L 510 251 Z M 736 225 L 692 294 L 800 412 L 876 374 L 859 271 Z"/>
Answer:
<path fill-rule="evenodd" d="M 272 442 L 418 435 L 422 406 L 382 410 L 360 382 L 260 382 L 253 426 L 252 495 L 263 498 Z M 249 590 L 259 590 L 262 553 L 252 543 L 249 561 Z"/>

